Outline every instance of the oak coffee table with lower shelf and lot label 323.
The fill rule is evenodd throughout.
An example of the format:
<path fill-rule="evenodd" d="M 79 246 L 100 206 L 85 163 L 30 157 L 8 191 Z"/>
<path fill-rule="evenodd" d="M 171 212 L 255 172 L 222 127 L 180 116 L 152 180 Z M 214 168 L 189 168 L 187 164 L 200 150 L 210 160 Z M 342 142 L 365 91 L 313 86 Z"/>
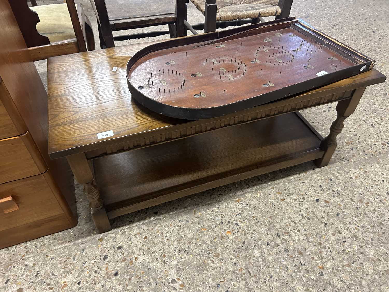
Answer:
<path fill-rule="evenodd" d="M 208 120 L 154 113 L 131 99 L 125 66 L 155 42 L 49 58 L 49 155 L 67 157 L 99 232 L 110 218 L 313 160 L 328 164 L 343 121 L 375 69 L 300 95 Z M 329 135 L 300 109 L 338 102 Z"/>

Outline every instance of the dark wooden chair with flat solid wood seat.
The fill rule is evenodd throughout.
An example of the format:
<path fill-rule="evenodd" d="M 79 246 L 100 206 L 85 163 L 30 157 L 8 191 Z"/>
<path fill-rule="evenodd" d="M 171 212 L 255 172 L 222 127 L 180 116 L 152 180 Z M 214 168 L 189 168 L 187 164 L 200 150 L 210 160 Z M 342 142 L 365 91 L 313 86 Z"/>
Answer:
<path fill-rule="evenodd" d="M 168 25 L 170 37 L 187 35 L 186 3 L 189 0 L 90 0 L 97 18 L 101 48 L 114 47 L 114 40 L 139 39 L 166 32 L 138 33 L 113 37 L 112 32 Z"/>

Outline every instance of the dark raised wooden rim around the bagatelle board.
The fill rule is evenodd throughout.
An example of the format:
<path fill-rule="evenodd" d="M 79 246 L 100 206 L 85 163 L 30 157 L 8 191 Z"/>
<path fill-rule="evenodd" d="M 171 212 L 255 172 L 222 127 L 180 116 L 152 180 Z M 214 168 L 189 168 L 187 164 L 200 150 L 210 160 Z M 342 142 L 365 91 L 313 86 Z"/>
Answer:
<path fill-rule="evenodd" d="M 158 102 L 141 93 L 136 86 L 133 86 L 131 84 L 131 81 L 129 79 L 129 73 L 131 67 L 140 58 L 157 50 L 168 49 L 177 46 L 185 46 L 190 44 L 197 44 L 196 47 L 205 46 L 205 45 L 212 44 L 215 40 L 217 40 L 217 42 L 221 42 L 221 41 L 237 39 L 249 35 L 254 35 L 258 33 L 263 33 L 263 32 L 268 32 L 268 31 L 273 31 L 273 30 L 278 30 L 281 28 L 288 28 L 288 27 L 293 29 L 304 28 L 306 34 L 312 35 L 313 37 L 315 37 L 315 39 L 318 42 L 322 42 L 326 46 L 330 46 L 331 49 L 336 48 L 336 50 L 342 51 L 343 52 L 342 55 L 348 58 L 350 61 L 356 63 L 356 65 L 336 72 L 332 72 L 330 74 L 316 77 L 315 79 L 303 81 L 298 84 L 293 84 L 286 88 L 280 88 L 278 90 L 274 90 L 270 93 L 267 93 L 266 95 L 258 95 L 258 96 L 251 97 L 249 99 L 240 100 L 230 104 L 225 104 L 223 106 L 208 107 L 208 108 L 177 107 L 177 106 L 171 106 L 171 105 Z M 151 109 L 152 111 L 173 118 L 181 118 L 185 120 L 202 120 L 207 118 L 215 118 L 217 116 L 224 116 L 225 114 L 230 114 L 254 106 L 259 106 L 261 104 L 265 104 L 268 102 L 272 102 L 274 100 L 282 99 L 297 93 L 301 93 L 302 91 L 305 90 L 310 90 L 312 88 L 316 88 L 319 86 L 323 86 L 325 84 L 329 84 L 344 79 L 345 77 L 354 76 L 356 74 L 371 69 L 372 63 L 373 60 L 367 58 L 366 56 L 360 53 L 357 53 L 356 51 L 343 45 L 342 43 L 337 42 L 334 39 L 331 39 L 327 35 L 324 35 L 319 31 L 314 30 L 314 28 L 307 25 L 307 23 L 304 23 L 300 19 L 286 18 L 286 19 L 280 19 L 276 21 L 270 21 L 268 23 L 260 23 L 256 25 L 234 28 L 231 30 L 225 30 L 221 32 L 205 33 L 202 35 L 196 35 L 184 39 L 167 40 L 165 42 L 147 46 L 144 49 L 138 51 L 136 54 L 134 54 L 128 61 L 126 65 L 126 79 L 127 79 L 128 88 L 131 92 L 131 95 L 134 97 L 134 99 L 137 100 L 143 106 Z M 360 71 L 359 69 L 361 65 L 366 65 L 366 70 Z M 258 99 L 259 96 L 261 97 L 260 101 Z"/>

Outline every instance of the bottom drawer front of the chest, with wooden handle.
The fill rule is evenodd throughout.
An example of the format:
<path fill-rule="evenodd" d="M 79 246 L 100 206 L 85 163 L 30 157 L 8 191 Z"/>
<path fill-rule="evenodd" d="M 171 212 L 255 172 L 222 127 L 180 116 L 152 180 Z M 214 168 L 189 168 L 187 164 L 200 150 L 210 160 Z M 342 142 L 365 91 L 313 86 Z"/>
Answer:
<path fill-rule="evenodd" d="M 9 211 L 9 204 L 0 206 L 0 231 L 63 213 L 42 174 L 1 184 L 0 199 L 9 197 L 17 208 Z"/>

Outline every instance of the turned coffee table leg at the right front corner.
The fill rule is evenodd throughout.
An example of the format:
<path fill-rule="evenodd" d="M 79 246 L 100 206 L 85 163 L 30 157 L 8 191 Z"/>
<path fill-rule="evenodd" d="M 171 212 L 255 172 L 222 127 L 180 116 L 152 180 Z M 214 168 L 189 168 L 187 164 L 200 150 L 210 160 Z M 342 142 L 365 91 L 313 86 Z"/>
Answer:
<path fill-rule="evenodd" d="M 324 150 L 324 155 L 322 158 L 314 160 L 317 167 L 323 167 L 328 164 L 337 146 L 336 136 L 342 132 L 344 120 L 350 114 L 354 113 L 365 89 L 366 87 L 361 87 L 354 90 L 350 99 L 340 100 L 336 105 L 336 113 L 338 116 L 329 128 L 328 136 L 320 143 L 320 148 Z"/>

